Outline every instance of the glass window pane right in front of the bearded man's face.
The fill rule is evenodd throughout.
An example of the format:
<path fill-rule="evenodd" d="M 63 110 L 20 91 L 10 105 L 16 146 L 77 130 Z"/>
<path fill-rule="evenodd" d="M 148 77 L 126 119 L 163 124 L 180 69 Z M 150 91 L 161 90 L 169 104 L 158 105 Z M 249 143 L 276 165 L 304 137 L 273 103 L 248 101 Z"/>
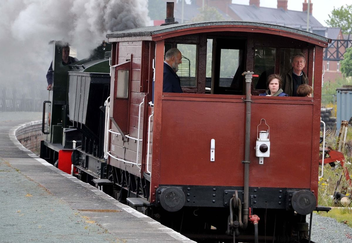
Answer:
<path fill-rule="evenodd" d="M 177 44 L 182 53 L 182 63 L 178 65 L 177 75 L 180 77 L 181 86 L 196 87 L 196 45 Z"/>

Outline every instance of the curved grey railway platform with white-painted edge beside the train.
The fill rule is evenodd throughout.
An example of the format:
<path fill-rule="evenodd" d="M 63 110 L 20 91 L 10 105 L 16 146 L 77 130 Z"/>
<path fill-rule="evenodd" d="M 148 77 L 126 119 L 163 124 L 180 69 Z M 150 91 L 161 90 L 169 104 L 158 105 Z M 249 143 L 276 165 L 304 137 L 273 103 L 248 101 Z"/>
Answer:
<path fill-rule="evenodd" d="M 194 242 L 64 173 L 15 138 L 34 112 L 0 112 L 1 242 Z"/>

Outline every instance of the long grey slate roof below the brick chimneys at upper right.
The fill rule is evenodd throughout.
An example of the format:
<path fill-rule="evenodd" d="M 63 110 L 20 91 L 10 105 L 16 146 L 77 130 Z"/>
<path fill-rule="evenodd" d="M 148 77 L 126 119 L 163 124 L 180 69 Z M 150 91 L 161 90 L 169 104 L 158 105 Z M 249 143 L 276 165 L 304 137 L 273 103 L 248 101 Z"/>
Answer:
<path fill-rule="evenodd" d="M 238 15 L 241 21 L 255 21 L 267 24 L 306 29 L 307 12 L 283 10 L 282 8 L 256 7 L 254 5 L 230 4 L 230 9 Z M 326 28 L 312 15 L 309 16 L 310 28 Z"/>

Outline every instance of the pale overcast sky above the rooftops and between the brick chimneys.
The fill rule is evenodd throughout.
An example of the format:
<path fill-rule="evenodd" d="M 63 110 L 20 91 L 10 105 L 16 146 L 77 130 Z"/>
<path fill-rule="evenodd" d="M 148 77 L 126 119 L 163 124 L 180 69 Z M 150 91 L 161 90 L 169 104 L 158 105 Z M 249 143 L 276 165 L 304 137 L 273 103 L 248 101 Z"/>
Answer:
<path fill-rule="evenodd" d="M 302 11 L 302 4 L 304 0 L 288 0 L 287 8 L 289 10 Z M 307 0 L 308 2 L 308 0 Z M 339 8 L 342 5 L 352 4 L 351 0 L 311 0 L 313 4 L 313 16 L 322 25 L 327 26 L 325 20 L 329 19 L 328 14 L 335 8 Z M 249 4 L 249 0 L 232 0 L 233 4 Z M 277 0 L 260 0 L 261 7 L 277 8 Z"/>

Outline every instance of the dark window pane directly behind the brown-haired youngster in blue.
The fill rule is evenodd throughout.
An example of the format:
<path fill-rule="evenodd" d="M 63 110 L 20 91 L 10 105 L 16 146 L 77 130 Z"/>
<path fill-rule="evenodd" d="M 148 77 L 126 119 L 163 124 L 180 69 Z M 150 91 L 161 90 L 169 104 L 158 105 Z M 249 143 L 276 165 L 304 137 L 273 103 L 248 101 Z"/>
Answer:
<path fill-rule="evenodd" d="M 266 79 L 275 72 L 275 48 L 255 47 L 254 74 L 259 77 L 253 78 L 256 90 L 266 90 Z"/>

